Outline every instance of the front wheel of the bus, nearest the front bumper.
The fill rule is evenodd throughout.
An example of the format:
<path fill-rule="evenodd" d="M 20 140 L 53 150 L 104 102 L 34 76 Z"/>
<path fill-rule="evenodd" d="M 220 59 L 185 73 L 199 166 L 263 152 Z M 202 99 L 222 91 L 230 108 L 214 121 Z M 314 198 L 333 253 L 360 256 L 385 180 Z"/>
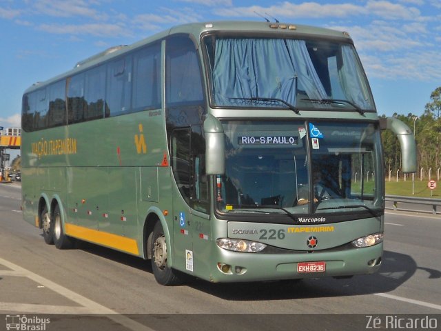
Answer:
<path fill-rule="evenodd" d="M 152 234 L 152 270 L 154 278 L 161 285 L 178 285 L 181 283 L 176 270 L 167 265 L 167 243 L 161 222 L 156 221 Z"/>

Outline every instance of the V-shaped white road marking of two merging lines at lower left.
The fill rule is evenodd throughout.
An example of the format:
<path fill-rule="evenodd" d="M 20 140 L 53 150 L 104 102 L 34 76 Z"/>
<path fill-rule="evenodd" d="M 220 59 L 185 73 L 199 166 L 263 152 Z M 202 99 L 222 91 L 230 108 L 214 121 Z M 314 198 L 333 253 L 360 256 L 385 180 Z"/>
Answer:
<path fill-rule="evenodd" d="M 92 301 L 86 297 L 83 297 L 81 294 L 78 294 L 74 291 L 69 290 L 68 288 L 65 288 L 57 283 L 54 283 L 53 281 L 50 281 L 49 279 L 46 279 L 44 277 L 41 277 L 39 274 L 35 274 L 34 272 L 27 270 L 25 268 L 22 268 L 19 265 L 16 265 L 10 261 L 6 261 L 4 259 L 0 258 L 0 264 L 6 266 L 7 268 L 11 269 L 13 272 L 16 272 L 16 275 L 19 277 L 27 277 L 28 279 L 32 279 L 32 281 L 35 281 L 36 283 L 39 283 L 40 285 L 44 285 L 46 288 L 49 288 L 50 290 L 57 292 L 58 294 L 61 294 L 63 297 L 66 297 L 70 299 L 71 301 L 74 301 L 81 305 L 81 307 L 63 307 L 63 306 L 57 306 L 54 308 L 54 306 L 51 305 L 43 305 L 42 308 L 54 308 L 54 310 L 46 309 L 44 310 L 45 314 L 77 314 L 78 310 L 80 310 L 83 314 L 105 314 L 108 319 L 111 319 L 112 321 L 119 323 L 126 328 L 129 328 L 130 330 L 145 330 L 145 331 L 153 331 L 153 329 L 148 328 L 147 326 L 138 323 L 134 321 L 133 319 L 129 319 L 128 317 L 125 317 L 121 314 L 118 314 L 118 312 L 115 312 L 114 310 L 107 308 L 103 305 L 100 305 L 99 303 L 96 303 L 95 301 Z M 2 274 L 8 274 L 9 276 L 13 276 L 13 272 L 10 272 L 9 270 L 1 270 Z M 39 306 L 39 305 L 36 305 Z M 12 303 L 9 302 L 0 302 L 0 310 L 6 307 L 7 311 L 11 311 L 13 307 Z M 32 309 L 32 305 L 26 305 L 26 304 L 18 304 L 16 308 L 17 310 L 14 311 L 20 311 L 19 308 Z M 39 308 L 35 307 L 36 310 L 39 310 Z M 34 310 L 32 310 L 34 311 Z"/>

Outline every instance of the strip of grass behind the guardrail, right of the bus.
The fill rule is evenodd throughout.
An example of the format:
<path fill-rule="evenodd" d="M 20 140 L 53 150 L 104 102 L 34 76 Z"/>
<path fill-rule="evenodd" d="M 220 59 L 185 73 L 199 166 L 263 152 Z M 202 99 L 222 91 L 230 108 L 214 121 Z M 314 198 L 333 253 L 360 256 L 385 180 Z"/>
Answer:
<path fill-rule="evenodd" d="M 403 195 L 406 197 L 421 197 L 421 198 L 434 198 L 441 199 L 441 183 L 437 183 L 438 186 L 432 190 L 427 187 L 427 183 L 429 181 L 427 179 L 423 179 L 420 181 L 419 179 L 415 179 L 415 194 L 412 194 L 412 180 L 408 179 L 407 181 L 388 181 L 386 179 L 386 194 L 387 195 Z"/>

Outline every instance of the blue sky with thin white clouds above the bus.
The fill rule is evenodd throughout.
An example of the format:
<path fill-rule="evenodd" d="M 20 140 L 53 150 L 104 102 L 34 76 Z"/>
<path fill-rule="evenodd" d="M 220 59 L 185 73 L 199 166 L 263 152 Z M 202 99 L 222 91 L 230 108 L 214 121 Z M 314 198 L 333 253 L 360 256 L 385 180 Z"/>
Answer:
<path fill-rule="evenodd" d="M 102 50 L 259 15 L 349 32 L 380 115 L 420 116 L 441 86 L 441 0 L 0 0 L 0 126 L 20 126 L 26 88 Z"/>

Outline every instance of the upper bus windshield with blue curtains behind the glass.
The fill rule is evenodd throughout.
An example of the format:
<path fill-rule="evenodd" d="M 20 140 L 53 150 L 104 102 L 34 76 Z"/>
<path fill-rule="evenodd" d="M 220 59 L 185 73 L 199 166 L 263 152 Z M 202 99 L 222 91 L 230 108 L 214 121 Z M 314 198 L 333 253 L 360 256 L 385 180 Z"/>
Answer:
<path fill-rule="evenodd" d="M 213 36 L 204 40 L 213 106 L 375 111 L 349 43 Z"/>

